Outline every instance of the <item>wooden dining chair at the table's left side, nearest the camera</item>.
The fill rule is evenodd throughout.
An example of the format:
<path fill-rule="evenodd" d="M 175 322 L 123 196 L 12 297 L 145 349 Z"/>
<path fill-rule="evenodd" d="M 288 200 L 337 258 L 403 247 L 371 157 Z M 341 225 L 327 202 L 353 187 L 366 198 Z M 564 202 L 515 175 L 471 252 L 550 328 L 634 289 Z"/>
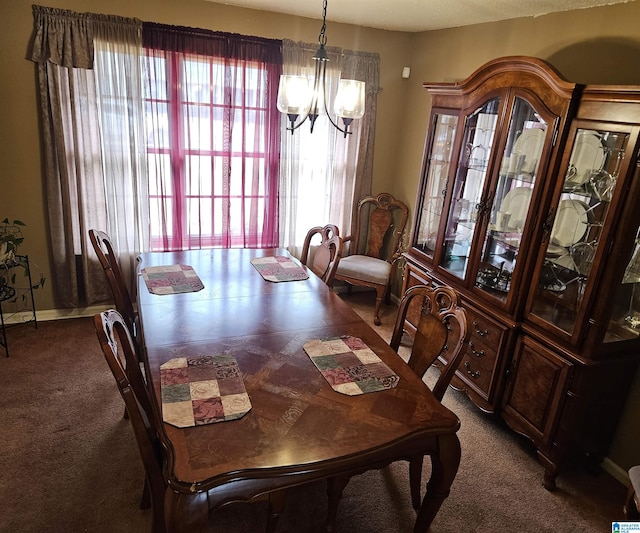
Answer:
<path fill-rule="evenodd" d="M 161 415 L 154 408 L 140 366 L 136 364 L 139 354 L 124 317 L 111 309 L 94 316 L 96 334 L 102 352 L 125 402 L 145 472 L 145 485 L 141 508 L 151 507 L 153 532 L 165 531 L 164 495 L 168 482 L 163 467 L 169 460 L 162 442 Z M 213 489 L 215 490 L 215 489 Z M 206 497 L 206 494 L 204 495 Z M 266 500 L 269 518 L 266 531 L 275 530 L 284 508 L 285 491 L 274 491 L 260 495 L 254 501 Z M 204 524 L 183 524 L 201 529 Z"/>

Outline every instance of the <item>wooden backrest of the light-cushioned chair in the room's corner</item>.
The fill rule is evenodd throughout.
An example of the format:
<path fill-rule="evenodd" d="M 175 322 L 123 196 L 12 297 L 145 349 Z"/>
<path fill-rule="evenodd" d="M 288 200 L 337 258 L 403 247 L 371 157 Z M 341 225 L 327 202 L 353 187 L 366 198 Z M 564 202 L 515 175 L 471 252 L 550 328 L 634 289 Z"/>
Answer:
<path fill-rule="evenodd" d="M 356 229 L 349 239 L 350 255 L 360 254 L 392 262 L 407 225 L 409 208 L 391 194 L 366 196 L 358 202 Z"/>

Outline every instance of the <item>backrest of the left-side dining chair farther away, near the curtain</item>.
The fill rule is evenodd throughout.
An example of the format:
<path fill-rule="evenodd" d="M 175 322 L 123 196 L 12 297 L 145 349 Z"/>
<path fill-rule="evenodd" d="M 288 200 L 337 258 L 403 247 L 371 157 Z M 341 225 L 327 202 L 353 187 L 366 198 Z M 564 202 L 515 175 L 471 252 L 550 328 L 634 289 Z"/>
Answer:
<path fill-rule="evenodd" d="M 133 302 L 131 301 L 131 295 L 124 281 L 124 276 L 122 275 L 122 270 L 120 269 L 118 257 L 114 252 L 111 239 L 104 231 L 96 229 L 89 230 L 89 239 L 91 240 L 93 249 L 96 251 L 102 269 L 107 275 L 107 281 L 111 288 L 116 309 L 124 318 L 131 335 L 135 337 L 137 332 Z"/>

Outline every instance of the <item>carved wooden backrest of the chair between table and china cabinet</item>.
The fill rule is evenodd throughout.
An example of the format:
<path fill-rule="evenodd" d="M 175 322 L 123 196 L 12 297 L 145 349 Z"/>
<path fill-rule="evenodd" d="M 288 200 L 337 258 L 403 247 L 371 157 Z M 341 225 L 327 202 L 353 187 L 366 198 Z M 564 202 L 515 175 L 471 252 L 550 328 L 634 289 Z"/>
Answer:
<path fill-rule="evenodd" d="M 433 387 L 433 394 L 442 400 L 455 371 L 464 355 L 464 345 L 469 341 L 470 330 L 467 327 L 467 314 L 459 306 L 458 294 L 450 287 L 428 287 L 415 285 L 405 292 L 391 337 L 391 347 L 398 351 L 404 321 L 409 307 L 418 310 L 420 319 L 417 324 L 413 347 L 409 357 L 409 366 L 420 377 L 440 357 L 440 363 L 446 366 Z"/>

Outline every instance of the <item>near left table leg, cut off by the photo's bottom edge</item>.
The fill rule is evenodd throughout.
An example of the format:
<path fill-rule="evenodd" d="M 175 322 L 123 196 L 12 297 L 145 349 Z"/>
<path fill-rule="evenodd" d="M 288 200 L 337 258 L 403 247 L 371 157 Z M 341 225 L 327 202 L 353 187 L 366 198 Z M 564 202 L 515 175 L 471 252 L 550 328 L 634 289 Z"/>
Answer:
<path fill-rule="evenodd" d="M 166 489 L 164 521 L 167 533 L 201 531 L 208 517 L 209 503 L 206 492 L 183 494 L 170 488 Z M 156 529 L 156 524 L 152 530 L 159 531 Z"/>

